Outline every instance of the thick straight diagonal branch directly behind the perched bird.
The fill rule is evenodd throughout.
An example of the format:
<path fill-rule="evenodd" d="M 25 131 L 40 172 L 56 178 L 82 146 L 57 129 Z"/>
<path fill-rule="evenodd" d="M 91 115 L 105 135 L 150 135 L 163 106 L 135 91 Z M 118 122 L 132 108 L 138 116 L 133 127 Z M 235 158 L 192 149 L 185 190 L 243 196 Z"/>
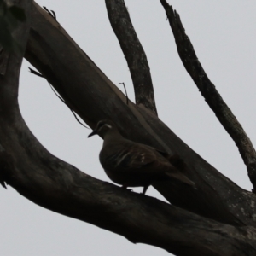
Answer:
<path fill-rule="evenodd" d="M 26 59 L 90 127 L 94 128 L 100 119 L 112 119 L 123 136 L 179 154 L 188 166 L 188 177 L 198 189 L 191 191 L 169 182 L 154 185 L 168 201 L 226 224 L 255 224 L 256 196 L 240 189 L 202 160 L 154 113 L 132 102 L 127 105 L 123 93 L 36 3 Z"/>

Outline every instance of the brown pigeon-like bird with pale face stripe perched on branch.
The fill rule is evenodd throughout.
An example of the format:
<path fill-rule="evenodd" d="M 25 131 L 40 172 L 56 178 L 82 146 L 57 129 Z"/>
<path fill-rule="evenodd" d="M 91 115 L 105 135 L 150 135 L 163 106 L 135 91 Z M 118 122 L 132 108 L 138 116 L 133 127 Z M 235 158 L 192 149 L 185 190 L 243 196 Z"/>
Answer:
<path fill-rule="evenodd" d="M 126 139 L 113 121 L 99 121 L 88 137 L 96 134 L 104 139 L 99 155 L 102 167 L 107 176 L 123 188 L 143 187 L 145 195 L 151 184 L 170 179 L 195 188 L 195 183 L 178 169 L 182 162 L 178 157 Z"/>

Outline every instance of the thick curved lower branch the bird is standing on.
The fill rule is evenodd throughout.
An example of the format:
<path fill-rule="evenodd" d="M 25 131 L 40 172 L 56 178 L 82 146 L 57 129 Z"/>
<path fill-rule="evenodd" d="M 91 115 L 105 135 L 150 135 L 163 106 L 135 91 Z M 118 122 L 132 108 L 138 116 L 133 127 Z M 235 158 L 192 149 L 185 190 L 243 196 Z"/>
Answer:
<path fill-rule="evenodd" d="M 25 48 L 28 27 L 16 38 Z M 24 36 L 25 35 L 25 36 Z M 0 76 L 0 173 L 39 206 L 95 224 L 177 255 L 254 255 L 256 230 L 202 218 L 164 202 L 96 180 L 57 159 L 38 142 L 20 115 L 22 55 L 9 55 Z M 213 245 L 213 246 L 212 246 Z"/>

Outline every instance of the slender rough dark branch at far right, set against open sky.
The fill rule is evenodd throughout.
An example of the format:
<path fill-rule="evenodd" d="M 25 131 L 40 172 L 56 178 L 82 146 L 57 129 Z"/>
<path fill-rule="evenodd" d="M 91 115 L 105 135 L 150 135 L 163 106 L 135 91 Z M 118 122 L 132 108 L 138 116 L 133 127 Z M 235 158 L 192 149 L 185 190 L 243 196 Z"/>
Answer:
<path fill-rule="evenodd" d="M 253 191 L 256 192 L 256 151 L 253 148 L 252 142 L 249 137 L 247 137 L 246 132 L 241 127 L 236 116 L 219 95 L 214 84 L 208 79 L 207 73 L 205 73 L 201 66 L 193 45 L 185 33 L 179 15 L 176 11 L 173 11 L 172 6 L 166 3 L 166 0 L 160 0 L 160 2 L 166 10 L 166 15 L 177 44 L 177 52 L 183 61 L 184 67 L 201 91 L 201 95 L 205 98 L 209 107 L 212 108 L 212 111 L 216 114 L 219 122 L 236 143 L 242 160 L 247 166 L 248 176 L 253 184 Z"/>

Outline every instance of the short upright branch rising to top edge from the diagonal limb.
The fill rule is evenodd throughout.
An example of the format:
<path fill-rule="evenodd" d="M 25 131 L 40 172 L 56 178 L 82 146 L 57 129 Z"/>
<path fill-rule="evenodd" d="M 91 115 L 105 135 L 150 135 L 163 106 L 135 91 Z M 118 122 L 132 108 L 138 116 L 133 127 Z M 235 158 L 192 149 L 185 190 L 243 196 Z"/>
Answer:
<path fill-rule="evenodd" d="M 136 103 L 157 114 L 147 56 L 137 38 L 124 0 L 106 0 L 108 18 L 130 68 Z"/>

